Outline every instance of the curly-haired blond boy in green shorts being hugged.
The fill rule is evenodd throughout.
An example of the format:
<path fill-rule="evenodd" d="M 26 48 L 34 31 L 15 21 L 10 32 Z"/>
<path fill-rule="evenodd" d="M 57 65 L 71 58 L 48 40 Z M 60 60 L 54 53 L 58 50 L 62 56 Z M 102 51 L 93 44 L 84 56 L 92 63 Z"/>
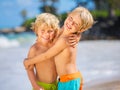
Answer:
<path fill-rule="evenodd" d="M 59 20 L 53 14 L 42 13 L 37 16 L 35 23 L 32 23 L 31 29 L 35 32 L 37 40 L 30 48 L 28 58 L 46 52 L 52 46 L 54 38 L 58 35 Z M 57 90 L 54 58 L 32 65 L 31 69 L 27 69 L 27 74 L 34 90 Z"/>

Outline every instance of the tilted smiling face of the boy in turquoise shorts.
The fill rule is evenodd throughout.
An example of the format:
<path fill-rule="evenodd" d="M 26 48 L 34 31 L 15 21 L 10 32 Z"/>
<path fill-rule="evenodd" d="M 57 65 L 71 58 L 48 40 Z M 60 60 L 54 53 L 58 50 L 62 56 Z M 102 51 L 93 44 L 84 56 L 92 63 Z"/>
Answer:
<path fill-rule="evenodd" d="M 81 19 L 77 12 L 70 13 L 64 22 L 64 29 L 69 33 L 75 33 L 80 30 Z"/>

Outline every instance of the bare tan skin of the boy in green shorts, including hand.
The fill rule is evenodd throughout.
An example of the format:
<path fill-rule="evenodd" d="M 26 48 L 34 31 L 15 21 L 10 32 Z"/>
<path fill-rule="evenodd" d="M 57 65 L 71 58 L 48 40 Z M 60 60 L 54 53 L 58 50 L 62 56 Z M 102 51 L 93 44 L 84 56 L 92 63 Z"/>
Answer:
<path fill-rule="evenodd" d="M 46 52 L 51 45 L 53 44 L 51 40 L 54 38 L 54 31 L 50 27 L 42 27 L 38 28 L 38 37 L 36 43 L 31 47 L 28 58 L 32 58 L 36 55 L 42 54 Z M 76 35 L 70 35 L 67 38 L 68 45 L 73 46 L 76 44 Z M 28 69 L 28 77 L 32 83 L 32 86 L 35 90 L 39 90 L 40 88 L 43 90 L 42 87 L 37 85 L 37 81 L 45 82 L 45 83 L 53 83 L 56 81 L 57 72 L 55 67 L 54 58 L 49 58 L 46 61 L 36 63 L 36 75 L 34 73 L 34 69 Z M 43 73 L 44 72 L 44 73 Z M 46 77 L 46 78 L 45 78 Z"/>

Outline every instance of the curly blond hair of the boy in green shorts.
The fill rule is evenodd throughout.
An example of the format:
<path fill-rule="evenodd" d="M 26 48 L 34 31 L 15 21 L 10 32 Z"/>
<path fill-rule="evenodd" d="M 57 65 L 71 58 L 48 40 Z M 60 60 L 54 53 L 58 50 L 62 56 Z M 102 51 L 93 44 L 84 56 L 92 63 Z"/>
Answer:
<path fill-rule="evenodd" d="M 42 24 L 51 27 L 55 31 L 58 31 L 60 28 L 59 19 L 51 13 L 42 13 L 36 17 L 35 22 L 33 22 L 31 25 L 31 29 L 36 33 L 36 35 L 38 32 L 38 27 L 41 26 Z"/>

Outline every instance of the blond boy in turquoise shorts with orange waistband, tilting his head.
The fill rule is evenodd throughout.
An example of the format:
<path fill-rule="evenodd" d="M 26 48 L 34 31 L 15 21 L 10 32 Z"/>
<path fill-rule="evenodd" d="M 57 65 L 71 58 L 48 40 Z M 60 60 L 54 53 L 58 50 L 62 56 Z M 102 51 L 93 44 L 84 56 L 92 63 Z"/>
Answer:
<path fill-rule="evenodd" d="M 70 47 L 66 38 L 74 33 L 80 34 L 91 28 L 94 23 L 91 13 L 84 7 L 77 7 L 69 13 L 55 44 L 46 52 L 24 61 L 26 68 L 29 65 L 43 62 L 55 57 L 57 74 L 60 77 L 58 90 L 79 90 L 82 78 L 76 66 L 77 45 Z M 52 90 L 52 89 L 51 89 Z"/>

